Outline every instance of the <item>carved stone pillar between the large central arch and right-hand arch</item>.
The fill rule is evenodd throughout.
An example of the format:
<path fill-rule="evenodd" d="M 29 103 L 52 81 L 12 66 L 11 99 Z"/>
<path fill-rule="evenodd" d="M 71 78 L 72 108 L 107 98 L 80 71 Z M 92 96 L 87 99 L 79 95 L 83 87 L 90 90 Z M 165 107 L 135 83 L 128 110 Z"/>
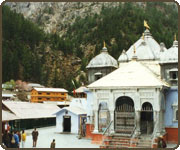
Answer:
<path fill-rule="evenodd" d="M 136 124 L 136 129 L 135 129 L 135 136 L 139 136 L 141 134 L 141 111 L 135 111 L 135 124 Z"/>

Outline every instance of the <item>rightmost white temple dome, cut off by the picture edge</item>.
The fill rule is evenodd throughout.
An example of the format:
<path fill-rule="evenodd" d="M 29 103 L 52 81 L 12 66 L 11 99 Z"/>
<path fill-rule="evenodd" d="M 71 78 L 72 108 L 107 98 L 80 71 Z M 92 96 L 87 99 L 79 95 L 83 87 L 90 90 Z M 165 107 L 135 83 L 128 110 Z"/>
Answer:
<path fill-rule="evenodd" d="M 160 57 L 160 63 L 178 62 L 178 41 L 173 42 L 173 46 L 164 51 Z"/>

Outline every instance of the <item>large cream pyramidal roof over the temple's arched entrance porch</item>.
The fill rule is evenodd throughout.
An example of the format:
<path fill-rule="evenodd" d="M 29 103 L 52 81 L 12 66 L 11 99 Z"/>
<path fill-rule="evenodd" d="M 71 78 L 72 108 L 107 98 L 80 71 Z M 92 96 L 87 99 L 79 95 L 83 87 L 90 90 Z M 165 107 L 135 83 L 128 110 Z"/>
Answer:
<path fill-rule="evenodd" d="M 168 83 L 158 78 L 146 66 L 130 61 L 110 74 L 88 85 L 90 89 L 115 89 L 131 87 L 162 87 Z"/>

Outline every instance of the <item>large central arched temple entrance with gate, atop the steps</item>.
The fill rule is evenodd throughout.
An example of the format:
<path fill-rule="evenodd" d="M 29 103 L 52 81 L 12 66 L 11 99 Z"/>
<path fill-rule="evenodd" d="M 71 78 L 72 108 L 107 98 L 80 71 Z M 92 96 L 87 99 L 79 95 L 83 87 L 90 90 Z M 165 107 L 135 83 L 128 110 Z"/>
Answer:
<path fill-rule="evenodd" d="M 114 115 L 115 132 L 121 134 L 132 134 L 134 129 L 134 102 L 130 97 L 123 96 L 116 100 Z"/>

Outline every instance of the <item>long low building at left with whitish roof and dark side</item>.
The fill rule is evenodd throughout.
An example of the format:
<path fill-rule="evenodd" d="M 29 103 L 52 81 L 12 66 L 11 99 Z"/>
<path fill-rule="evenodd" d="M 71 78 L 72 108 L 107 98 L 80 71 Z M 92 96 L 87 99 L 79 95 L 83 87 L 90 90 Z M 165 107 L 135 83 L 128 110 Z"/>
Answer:
<path fill-rule="evenodd" d="M 55 112 L 60 108 L 54 104 L 41 104 L 29 102 L 2 102 L 2 118 L 4 121 L 11 120 L 9 125 L 11 129 L 32 129 L 38 127 L 52 126 L 56 124 Z M 8 113 L 8 118 L 7 117 Z"/>

